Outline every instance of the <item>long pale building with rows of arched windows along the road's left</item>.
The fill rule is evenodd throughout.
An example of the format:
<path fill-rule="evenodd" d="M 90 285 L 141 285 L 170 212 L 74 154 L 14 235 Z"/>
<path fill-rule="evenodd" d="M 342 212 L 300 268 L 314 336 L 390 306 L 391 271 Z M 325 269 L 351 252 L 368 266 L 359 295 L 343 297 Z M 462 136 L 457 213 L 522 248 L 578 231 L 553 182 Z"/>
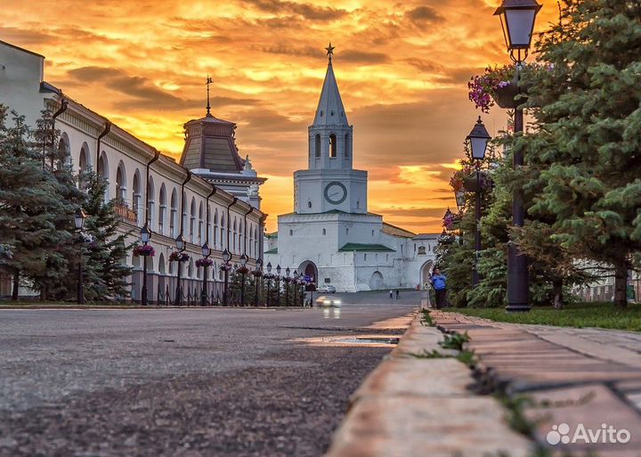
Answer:
<path fill-rule="evenodd" d="M 215 261 L 208 269 L 208 294 L 222 294 L 222 253 L 228 249 L 231 262 L 242 254 L 249 257 L 248 266 L 256 265 L 263 252 L 264 219 L 260 211 L 258 186 L 264 179 L 251 169 L 248 159 L 239 157 L 235 142 L 228 146 L 227 156 L 211 147 L 211 119 L 225 123 L 223 140 L 234 135 L 235 125 L 216 119 L 209 112 L 204 118 L 185 125 L 186 143 L 181 163 L 143 143 L 109 119 L 69 98 L 61 89 L 44 81 L 45 57 L 14 45 L 0 42 L 0 103 L 26 116 L 35 126 L 40 111 L 55 112 L 66 106 L 56 118 L 55 127 L 61 131 L 59 147 L 80 173 L 88 168 L 97 170 L 107 181 L 105 200 L 115 200 L 122 221 L 119 229 L 129 233 L 131 241 L 139 241 L 142 226 L 152 233 L 150 244 L 155 257 L 147 260 L 148 294 L 150 302 L 174 300 L 178 264 L 169 262 L 175 250 L 175 239 L 183 234 L 186 252 L 191 257 L 182 272 L 185 298 L 199 297 L 203 279 L 202 268 L 195 261 L 202 257 L 202 245 L 212 249 Z M 192 127 L 197 126 L 197 127 Z M 201 143 L 202 164 L 189 162 L 190 147 Z M 229 143 L 229 142 L 228 142 Z M 195 149 L 195 148 L 192 148 Z M 235 155 L 234 155 L 235 154 Z M 228 161 L 234 167 L 228 166 Z M 149 181 L 145 186 L 147 168 Z M 190 169 L 191 168 L 191 169 Z M 142 257 L 130 252 L 123 262 L 134 268 L 131 278 L 131 298 L 140 299 L 142 287 Z M 0 295 L 11 293 L 10 278 L 0 280 Z"/>

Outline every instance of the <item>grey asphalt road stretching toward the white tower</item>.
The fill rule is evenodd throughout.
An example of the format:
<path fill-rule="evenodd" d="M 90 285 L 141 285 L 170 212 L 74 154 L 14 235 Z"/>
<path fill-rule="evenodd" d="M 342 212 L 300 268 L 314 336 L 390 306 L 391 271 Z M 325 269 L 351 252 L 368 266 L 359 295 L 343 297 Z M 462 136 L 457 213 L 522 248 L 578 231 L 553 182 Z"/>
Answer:
<path fill-rule="evenodd" d="M 340 310 L 0 310 L 0 456 L 318 456 L 391 347 L 318 344 L 410 313 L 416 292 Z M 398 332 L 398 331 L 397 331 Z"/>

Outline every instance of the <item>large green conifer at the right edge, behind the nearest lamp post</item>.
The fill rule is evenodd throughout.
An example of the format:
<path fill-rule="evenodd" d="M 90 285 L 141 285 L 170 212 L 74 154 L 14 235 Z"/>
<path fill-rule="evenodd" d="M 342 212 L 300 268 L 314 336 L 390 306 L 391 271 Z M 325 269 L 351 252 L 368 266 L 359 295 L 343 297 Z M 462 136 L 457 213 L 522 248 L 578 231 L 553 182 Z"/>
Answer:
<path fill-rule="evenodd" d="M 626 306 L 641 249 L 641 4 L 565 0 L 537 51 L 549 64 L 531 89 L 538 130 L 515 143 L 540 174 L 530 213 L 575 259 L 612 265 Z"/>

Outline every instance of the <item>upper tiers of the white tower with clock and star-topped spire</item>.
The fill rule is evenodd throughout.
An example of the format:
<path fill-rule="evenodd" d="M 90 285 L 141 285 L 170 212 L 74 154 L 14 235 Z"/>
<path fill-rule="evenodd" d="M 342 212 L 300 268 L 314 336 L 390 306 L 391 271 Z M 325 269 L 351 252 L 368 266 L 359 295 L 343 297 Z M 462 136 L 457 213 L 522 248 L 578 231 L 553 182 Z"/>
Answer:
<path fill-rule="evenodd" d="M 318 214 L 338 210 L 367 213 L 367 172 L 354 170 L 353 126 L 341 100 L 332 55 L 313 124 L 309 126 L 309 166 L 294 173 L 294 211 Z"/>

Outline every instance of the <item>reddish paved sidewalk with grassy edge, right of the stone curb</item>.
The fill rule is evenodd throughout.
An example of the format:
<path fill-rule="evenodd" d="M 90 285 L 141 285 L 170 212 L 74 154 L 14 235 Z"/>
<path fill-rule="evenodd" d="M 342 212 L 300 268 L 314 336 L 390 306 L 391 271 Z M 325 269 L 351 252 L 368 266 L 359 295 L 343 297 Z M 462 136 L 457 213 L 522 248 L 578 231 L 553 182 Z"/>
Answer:
<path fill-rule="evenodd" d="M 580 423 L 593 433 L 605 424 L 629 430 L 629 443 L 548 447 L 573 455 L 641 456 L 641 335 L 491 322 L 456 313 L 436 312 L 433 319 L 446 331 L 467 331 L 468 347 L 487 376 L 507 393 L 523 393 L 539 404 L 526 409 L 526 415 L 537 420 L 535 436 L 541 444 L 548 445 L 553 425 L 566 423 L 573 434 Z"/>

